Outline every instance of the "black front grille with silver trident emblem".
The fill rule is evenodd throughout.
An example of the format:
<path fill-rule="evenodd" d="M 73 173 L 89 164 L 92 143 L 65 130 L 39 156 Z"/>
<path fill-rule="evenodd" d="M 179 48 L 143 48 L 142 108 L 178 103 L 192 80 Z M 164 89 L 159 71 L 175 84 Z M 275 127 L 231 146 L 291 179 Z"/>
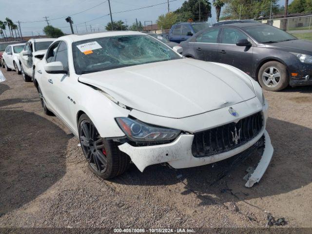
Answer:
<path fill-rule="evenodd" d="M 195 133 L 192 144 L 193 156 L 212 156 L 233 150 L 257 136 L 262 126 L 262 114 L 258 112 L 240 119 L 237 123 L 232 122 Z"/>

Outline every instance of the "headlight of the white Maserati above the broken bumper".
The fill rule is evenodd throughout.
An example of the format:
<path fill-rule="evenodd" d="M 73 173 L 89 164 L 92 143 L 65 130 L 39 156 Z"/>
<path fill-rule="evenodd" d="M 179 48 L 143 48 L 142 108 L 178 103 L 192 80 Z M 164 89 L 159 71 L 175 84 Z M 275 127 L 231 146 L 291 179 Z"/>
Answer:
<path fill-rule="evenodd" d="M 176 129 L 151 126 L 128 117 L 119 117 L 116 121 L 127 137 L 135 141 L 172 140 L 181 132 Z"/>

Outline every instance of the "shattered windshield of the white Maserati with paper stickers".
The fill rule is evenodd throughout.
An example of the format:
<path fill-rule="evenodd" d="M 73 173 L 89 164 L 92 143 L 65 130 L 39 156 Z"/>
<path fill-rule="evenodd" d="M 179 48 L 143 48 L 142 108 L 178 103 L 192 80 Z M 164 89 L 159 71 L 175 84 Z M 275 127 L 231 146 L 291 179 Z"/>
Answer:
<path fill-rule="evenodd" d="M 72 43 L 77 74 L 139 64 L 182 59 L 171 48 L 148 35 L 121 35 Z"/>

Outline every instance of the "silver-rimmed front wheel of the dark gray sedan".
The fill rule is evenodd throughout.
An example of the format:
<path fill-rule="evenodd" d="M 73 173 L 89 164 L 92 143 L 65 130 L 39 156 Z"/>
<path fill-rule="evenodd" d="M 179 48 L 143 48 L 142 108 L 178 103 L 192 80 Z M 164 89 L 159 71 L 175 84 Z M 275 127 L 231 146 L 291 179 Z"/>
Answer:
<path fill-rule="evenodd" d="M 259 70 L 258 81 L 265 90 L 283 90 L 289 85 L 287 68 L 277 61 L 266 62 Z"/>

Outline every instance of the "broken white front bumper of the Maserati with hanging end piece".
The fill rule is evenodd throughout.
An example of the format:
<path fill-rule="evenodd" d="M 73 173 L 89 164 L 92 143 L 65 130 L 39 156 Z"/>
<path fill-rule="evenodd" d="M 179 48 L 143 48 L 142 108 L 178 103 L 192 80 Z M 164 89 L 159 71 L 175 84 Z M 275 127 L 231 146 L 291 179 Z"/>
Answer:
<path fill-rule="evenodd" d="M 154 146 L 136 147 L 129 143 L 119 145 L 119 149 L 129 155 L 137 168 L 143 172 L 144 169 L 153 164 L 167 162 L 173 168 L 188 168 L 214 163 L 226 158 L 235 156 L 248 148 L 252 147 L 262 136 L 265 138 L 264 152 L 254 173 L 250 175 L 246 187 L 252 187 L 254 183 L 259 182 L 266 171 L 273 156 L 273 146 L 268 132 L 263 129 L 256 137 L 231 151 L 221 154 L 194 157 L 192 154 L 192 142 L 194 135 L 180 135 L 174 142 Z"/>

